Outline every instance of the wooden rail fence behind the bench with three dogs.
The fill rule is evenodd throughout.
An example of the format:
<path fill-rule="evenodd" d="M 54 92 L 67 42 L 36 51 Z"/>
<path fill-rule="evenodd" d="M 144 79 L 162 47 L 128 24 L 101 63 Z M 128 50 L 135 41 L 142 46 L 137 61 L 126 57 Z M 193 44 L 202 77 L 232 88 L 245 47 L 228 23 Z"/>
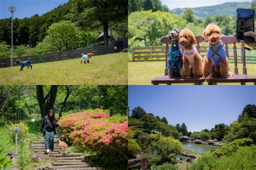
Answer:
<path fill-rule="evenodd" d="M 149 46 L 149 47 L 134 47 L 132 48 L 132 61 L 165 61 L 165 46 Z M 200 46 L 200 54 L 202 57 L 206 55 L 208 46 Z M 239 50 L 241 48 L 237 48 Z M 230 50 L 228 60 L 234 62 L 233 51 Z M 239 54 L 239 53 L 238 53 Z M 237 60 L 242 63 L 241 54 Z M 246 56 L 246 63 L 256 63 L 256 56 Z"/>

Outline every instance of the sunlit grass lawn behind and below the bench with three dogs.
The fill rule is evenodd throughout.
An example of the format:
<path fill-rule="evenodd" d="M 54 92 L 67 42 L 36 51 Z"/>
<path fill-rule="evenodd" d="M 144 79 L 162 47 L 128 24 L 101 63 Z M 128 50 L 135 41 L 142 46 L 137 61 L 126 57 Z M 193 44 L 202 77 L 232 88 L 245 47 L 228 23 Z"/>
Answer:
<path fill-rule="evenodd" d="M 246 64 L 247 74 L 256 75 L 256 64 Z M 151 80 L 164 75 L 165 61 L 128 62 L 128 84 L 151 84 Z M 234 63 L 230 63 L 230 70 L 234 73 Z M 238 63 L 238 73 L 242 73 L 242 63 Z M 206 85 L 207 83 L 204 82 Z M 221 85 L 234 85 L 240 83 L 219 83 Z M 253 83 L 246 83 L 253 84 Z M 188 83 L 187 85 L 192 85 Z"/>

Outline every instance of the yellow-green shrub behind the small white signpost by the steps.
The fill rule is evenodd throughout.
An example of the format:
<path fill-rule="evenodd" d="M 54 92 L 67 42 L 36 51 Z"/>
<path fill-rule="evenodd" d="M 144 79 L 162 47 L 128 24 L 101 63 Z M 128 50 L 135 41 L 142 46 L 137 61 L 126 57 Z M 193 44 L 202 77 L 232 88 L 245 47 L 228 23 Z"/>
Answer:
<path fill-rule="evenodd" d="M 28 134 L 29 132 L 29 128 L 28 126 L 26 126 L 23 122 L 20 122 L 18 124 L 10 124 L 10 125 L 6 125 L 6 130 L 11 138 L 12 141 L 15 142 L 15 131 L 14 131 L 14 127 L 18 126 L 19 127 L 19 131 L 17 132 L 17 137 L 18 137 L 18 141 L 23 139 L 26 134 Z"/>

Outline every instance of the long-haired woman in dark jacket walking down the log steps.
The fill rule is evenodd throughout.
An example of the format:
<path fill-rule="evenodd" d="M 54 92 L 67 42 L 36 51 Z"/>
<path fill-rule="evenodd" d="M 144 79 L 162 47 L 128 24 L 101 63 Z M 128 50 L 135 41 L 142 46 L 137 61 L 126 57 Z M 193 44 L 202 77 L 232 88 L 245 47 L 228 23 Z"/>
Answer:
<path fill-rule="evenodd" d="M 56 123 L 55 114 L 52 109 L 48 111 L 48 115 L 43 118 L 40 131 L 44 134 L 44 145 L 46 152 L 52 152 L 54 147 L 54 135 L 59 124 Z"/>

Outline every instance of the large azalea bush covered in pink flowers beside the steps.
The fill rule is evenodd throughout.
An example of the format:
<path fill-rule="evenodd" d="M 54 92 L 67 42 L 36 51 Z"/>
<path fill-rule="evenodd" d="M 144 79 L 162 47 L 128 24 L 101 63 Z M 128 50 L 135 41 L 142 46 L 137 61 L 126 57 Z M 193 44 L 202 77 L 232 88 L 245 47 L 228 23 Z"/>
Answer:
<path fill-rule="evenodd" d="M 127 148 L 128 122 L 125 116 L 112 116 L 103 110 L 89 110 L 63 116 L 60 130 L 74 146 L 96 151 Z"/>

